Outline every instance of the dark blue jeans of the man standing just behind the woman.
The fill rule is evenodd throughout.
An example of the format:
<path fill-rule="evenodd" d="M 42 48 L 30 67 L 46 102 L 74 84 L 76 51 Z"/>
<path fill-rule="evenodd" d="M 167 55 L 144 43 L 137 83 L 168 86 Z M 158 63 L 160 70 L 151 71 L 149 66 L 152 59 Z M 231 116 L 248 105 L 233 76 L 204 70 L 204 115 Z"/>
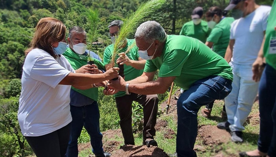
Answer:
<path fill-rule="evenodd" d="M 81 135 L 83 126 L 90 135 L 92 152 L 96 156 L 102 154 L 104 152 L 102 142 L 103 135 L 100 132 L 100 113 L 97 101 L 86 106 L 76 107 L 70 105 L 70 107 L 72 127 L 66 157 L 78 156 L 77 140 Z"/>

